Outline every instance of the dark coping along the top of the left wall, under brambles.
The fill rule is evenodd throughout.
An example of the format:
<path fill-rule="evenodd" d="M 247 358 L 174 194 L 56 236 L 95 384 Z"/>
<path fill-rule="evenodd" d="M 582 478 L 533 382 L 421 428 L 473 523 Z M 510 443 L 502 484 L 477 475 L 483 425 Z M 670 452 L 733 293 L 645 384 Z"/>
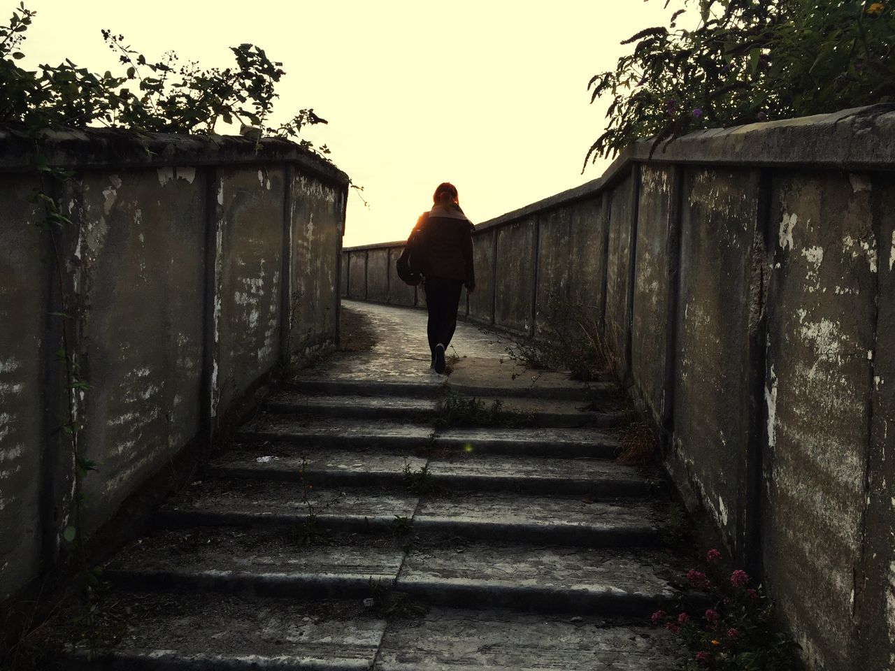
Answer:
<path fill-rule="evenodd" d="M 337 185 L 348 175 L 291 140 L 255 140 L 235 135 L 136 133 L 118 128 L 85 128 L 42 132 L 41 151 L 50 166 L 88 170 L 167 166 L 248 166 L 286 163 Z M 31 140 L 13 127 L 0 128 L 0 172 L 21 172 L 32 166 Z"/>

